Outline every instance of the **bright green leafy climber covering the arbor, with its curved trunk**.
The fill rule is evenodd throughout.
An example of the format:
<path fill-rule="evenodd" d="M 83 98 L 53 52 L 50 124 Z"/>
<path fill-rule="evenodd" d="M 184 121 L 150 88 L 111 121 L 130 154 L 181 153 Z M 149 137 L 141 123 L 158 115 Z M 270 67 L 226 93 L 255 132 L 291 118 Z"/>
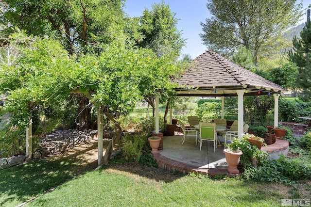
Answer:
<path fill-rule="evenodd" d="M 78 62 L 49 38 L 14 33 L 10 43 L 16 43 L 21 55 L 13 64 L 0 67 L 0 93 L 7 95 L 3 111 L 12 113 L 7 131 L 23 131 L 39 109 L 49 109 L 55 118 L 62 118 L 68 97 L 76 92 L 89 98 L 89 107 L 103 106 L 105 116 L 114 124 L 114 143 L 118 143 L 122 132 L 119 116 L 133 111 L 137 101 L 151 93 L 148 89 L 172 93 L 170 77 L 181 69 L 171 56 L 157 57 L 151 49 L 117 43 L 103 47 L 100 55 L 82 55 Z M 1 139 L 7 136 L 3 134 Z M 105 162 L 112 148 L 111 143 Z"/>

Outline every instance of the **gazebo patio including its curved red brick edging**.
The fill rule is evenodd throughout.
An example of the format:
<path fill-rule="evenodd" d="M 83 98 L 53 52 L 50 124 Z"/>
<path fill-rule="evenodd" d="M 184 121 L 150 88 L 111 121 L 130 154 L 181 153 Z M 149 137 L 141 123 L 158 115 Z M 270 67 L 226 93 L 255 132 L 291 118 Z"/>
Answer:
<path fill-rule="evenodd" d="M 298 135 L 299 136 L 299 135 Z M 228 164 L 223 153 L 224 145 L 217 145 L 215 153 L 213 144 L 203 142 L 200 151 L 199 143 L 195 144 L 194 138 L 186 138 L 184 144 L 181 144 L 183 135 L 175 132 L 174 136 L 163 137 L 163 150 L 155 155 L 158 167 L 167 171 L 178 171 L 182 174 L 191 172 L 203 175 L 242 175 L 242 169 L 239 168 L 239 174 L 227 172 Z M 222 138 L 220 141 L 223 142 Z M 289 143 L 286 140 L 276 139 L 276 143 L 261 147 L 261 150 L 269 154 L 269 159 L 278 159 L 278 156 L 287 155 Z"/>

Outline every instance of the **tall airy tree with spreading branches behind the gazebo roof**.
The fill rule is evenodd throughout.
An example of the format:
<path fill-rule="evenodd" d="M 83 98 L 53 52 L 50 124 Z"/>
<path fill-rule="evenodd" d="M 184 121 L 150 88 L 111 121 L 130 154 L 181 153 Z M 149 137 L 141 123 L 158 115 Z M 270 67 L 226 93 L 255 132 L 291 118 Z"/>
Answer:
<path fill-rule="evenodd" d="M 296 0 L 208 0 L 212 17 L 202 23 L 201 39 L 208 48 L 232 54 L 241 46 L 253 54 L 284 48 L 281 33 L 294 26 L 301 16 Z M 276 44 L 277 42 L 277 44 Z"/>

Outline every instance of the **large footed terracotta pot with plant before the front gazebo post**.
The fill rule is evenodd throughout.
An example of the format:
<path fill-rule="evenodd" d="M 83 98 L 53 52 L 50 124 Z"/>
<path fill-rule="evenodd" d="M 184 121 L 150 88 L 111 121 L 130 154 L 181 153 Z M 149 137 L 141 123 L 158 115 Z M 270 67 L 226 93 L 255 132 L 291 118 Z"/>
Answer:
<path fill-rule="evenodd" d="M 235 139 L 238 140 L 238 139 Z M 228 163 L 227 171 L 229 173 L 240 173 L 238 169 L 238 164 L 240 163 L 241 155 L 243 154 L 238 147 L 237 143 L 232 141 L 230 144 L 226 144 L 226 149 L 224 149 L 225 159 Z"/>

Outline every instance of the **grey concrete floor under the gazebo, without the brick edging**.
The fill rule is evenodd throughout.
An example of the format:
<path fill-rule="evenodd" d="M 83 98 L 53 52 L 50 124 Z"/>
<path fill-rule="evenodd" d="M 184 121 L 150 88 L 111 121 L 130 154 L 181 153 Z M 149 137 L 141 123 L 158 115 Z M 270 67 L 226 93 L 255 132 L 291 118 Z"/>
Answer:
<path fill-rule="evenodd" d="M 182 137 L 183 135 L 178 135 L 178 133 L 175 136 L 165 136 L 163 150 L 159 150 L 160 154 L 169 159 L 193 165 L 197 169 L 227 168 L 223 144 L 219 146 L 217 143 L 214 153 L 213 143 L 204 141 L 200 151 L 200 143 L 196 145 L 194 138 L 186 137 L 184 144 L 181 144 Z"/>

